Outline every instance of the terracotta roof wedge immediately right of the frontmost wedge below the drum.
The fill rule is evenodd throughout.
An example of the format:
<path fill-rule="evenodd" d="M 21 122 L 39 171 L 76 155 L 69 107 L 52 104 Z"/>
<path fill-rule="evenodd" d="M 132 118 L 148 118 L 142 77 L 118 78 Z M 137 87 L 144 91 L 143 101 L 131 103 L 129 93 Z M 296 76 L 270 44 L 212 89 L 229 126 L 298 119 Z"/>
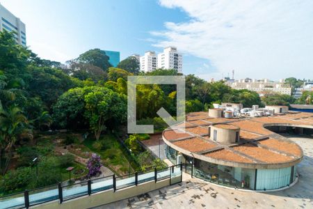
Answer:
<path fill-rule="evenodd" d="M 234 146 L 232 148 L 236 151 L 239 151 L 240 153 L 254 157 L 256 160 L 267 163 L 287 162 L 293 159 L 292 157 L 273 153 L 270 150 L 254 146 L 252 144 L 243 144 L 240 146 Z"/>

